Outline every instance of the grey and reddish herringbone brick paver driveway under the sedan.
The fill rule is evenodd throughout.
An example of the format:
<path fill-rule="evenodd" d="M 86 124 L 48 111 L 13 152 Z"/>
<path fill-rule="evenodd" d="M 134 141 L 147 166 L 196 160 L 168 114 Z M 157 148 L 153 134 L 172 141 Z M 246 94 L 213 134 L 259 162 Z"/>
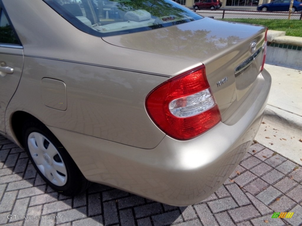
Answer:
<path fill-rule="evenodd" d="M 161 204 L 99 184 L 80 196 L 63 196 L 44 183 L 22 149 L 2 136 L 0 161 L 0 224 L 302 224 L 302 168 L 259 144 L 250 147 L 217 192 L 186 207 Z M 274 212 L 294 215 L 290 219 L 271 218 Z"/>

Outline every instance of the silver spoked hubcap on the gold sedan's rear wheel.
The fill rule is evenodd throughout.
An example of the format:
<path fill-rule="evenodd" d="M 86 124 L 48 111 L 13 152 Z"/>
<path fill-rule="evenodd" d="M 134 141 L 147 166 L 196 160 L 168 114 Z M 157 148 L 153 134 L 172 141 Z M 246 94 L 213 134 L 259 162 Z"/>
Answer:
<path fill-rule="evenodd" d="M 63 186 L 67 181 L 67 170 L 56 147 L 41 133 L 28 136 L 28 149 L 40 172 L 54 185 Z"/>

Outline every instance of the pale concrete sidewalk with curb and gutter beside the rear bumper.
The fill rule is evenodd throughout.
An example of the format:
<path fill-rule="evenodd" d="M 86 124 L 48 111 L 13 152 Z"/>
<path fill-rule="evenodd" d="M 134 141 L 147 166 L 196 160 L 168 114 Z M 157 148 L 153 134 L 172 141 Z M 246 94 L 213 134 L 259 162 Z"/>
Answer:
<path fill-rule="evenodd" d="M 255 140 L 302 165 L 302 71 L 265 64 L 272 84 Z"/>

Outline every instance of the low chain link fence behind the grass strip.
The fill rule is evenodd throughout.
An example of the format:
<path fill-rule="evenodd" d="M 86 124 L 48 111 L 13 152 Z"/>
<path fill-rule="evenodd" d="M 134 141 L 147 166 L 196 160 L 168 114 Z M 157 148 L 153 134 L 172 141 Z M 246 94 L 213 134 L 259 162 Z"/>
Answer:
<path fill-rule="evenodd" d="M 215 19 L 288 19 L 302 20 L 302 12 L 269 12 L 269 11 L 252 11 L 252 10 L 233 10 L 233 9 L 217 9 L 193 10 L 204 17 L 212 17 Z"/>

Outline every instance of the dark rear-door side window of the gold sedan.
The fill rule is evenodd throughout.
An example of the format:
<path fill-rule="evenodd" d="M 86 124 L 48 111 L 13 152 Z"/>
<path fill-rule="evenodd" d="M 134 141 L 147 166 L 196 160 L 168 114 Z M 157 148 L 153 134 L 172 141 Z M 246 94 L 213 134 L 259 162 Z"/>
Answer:
<path fill-rule="evenodd" d="M 20 45 L 4 11 L 0 8 L 0 43 Z"/>

